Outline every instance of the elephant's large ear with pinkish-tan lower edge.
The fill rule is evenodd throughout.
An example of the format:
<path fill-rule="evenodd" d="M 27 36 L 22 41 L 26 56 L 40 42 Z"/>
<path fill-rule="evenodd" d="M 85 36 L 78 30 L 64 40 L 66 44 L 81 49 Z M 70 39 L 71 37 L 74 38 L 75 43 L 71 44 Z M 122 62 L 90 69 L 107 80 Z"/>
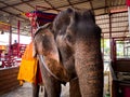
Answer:
<path fill-rule="evenodd" d="M 51 30 L 52 24 L 41 26 L 35 34 L 34 45 L 36 54 L 60 61 L 58 50 Z"/>

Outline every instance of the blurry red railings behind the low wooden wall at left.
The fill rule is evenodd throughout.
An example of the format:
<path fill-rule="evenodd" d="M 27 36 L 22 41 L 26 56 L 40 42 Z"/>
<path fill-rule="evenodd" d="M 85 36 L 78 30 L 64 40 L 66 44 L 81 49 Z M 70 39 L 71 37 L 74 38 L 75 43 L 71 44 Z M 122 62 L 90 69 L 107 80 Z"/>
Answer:
<path fill-rule="evenodd" d="M 20 46 L 20 51 L 17 47 Z M 2 55 L 0 56 L 0 68 L 8 68 L 8 67 L 16 67 L 21 64 L 22 55 L 26 48 L 26 44 L 15 44 L 12 45 L 12 52 L 10 55 Z"/>

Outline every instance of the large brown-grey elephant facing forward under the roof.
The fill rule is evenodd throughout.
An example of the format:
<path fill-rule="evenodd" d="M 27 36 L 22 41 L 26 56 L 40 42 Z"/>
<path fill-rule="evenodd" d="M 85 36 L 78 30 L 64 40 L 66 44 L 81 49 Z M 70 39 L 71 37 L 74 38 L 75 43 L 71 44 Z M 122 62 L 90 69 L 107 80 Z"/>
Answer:
<path fill-rule="evenodd" d="M 68 8 L 36 31 L 44 97 L 60 97 L 69 82 L 70 97 L 103 97 L 101 28 L 90 10 Z"/>

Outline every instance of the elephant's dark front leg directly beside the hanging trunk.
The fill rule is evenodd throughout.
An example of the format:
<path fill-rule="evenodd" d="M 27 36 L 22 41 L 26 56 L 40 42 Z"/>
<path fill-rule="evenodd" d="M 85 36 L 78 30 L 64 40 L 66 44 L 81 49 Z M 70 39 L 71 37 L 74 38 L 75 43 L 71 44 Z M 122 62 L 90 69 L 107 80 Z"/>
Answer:
<path fill-rule="evenodd" d="M 69 97 L 81 97 L 78 79 L 69 82 Z"/>

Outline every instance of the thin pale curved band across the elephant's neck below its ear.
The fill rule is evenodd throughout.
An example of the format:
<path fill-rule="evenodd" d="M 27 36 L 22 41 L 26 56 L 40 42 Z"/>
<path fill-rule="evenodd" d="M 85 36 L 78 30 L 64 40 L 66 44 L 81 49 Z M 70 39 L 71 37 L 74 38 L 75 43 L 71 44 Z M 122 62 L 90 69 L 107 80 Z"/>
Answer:
<path fill-rule="evenodd" d="M 46 68 L 46 70 L 52 75 L 54 77 L 56 80 L 63 82 L 60 78 L 57 78 L 49 68 L 48 66 L 46 65 L 44 63 L 44 57 L 42 55 L 38 55 L 39 56 L 39 59 L 41 60 L 41 64 L 43 65 L 43 67 Z"/>

